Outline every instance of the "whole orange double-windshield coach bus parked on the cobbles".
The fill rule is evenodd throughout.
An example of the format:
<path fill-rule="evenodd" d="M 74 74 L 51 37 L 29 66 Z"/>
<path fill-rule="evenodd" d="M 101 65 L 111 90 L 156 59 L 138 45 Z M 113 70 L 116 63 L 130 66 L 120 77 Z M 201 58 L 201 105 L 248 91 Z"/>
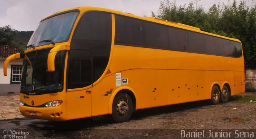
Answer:
<path fill-rule="evenodd" d="M 69 120 L 212 100 L 245 90 L 238 39 L 181 23 L 95 7 L 56 12 L 39 23 L 24 54 L 20 112 Z"/>

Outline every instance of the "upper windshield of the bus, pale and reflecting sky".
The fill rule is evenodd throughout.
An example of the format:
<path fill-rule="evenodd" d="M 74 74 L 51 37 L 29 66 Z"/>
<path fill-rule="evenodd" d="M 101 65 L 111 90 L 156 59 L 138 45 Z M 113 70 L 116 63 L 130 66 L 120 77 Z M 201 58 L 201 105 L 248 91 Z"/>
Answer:
<path fill-rule="evenodd" d="M 69 12 L 43 20 L 31 36 L 27 48 L 68 41 L 77 15 L 78 12 Z"/>

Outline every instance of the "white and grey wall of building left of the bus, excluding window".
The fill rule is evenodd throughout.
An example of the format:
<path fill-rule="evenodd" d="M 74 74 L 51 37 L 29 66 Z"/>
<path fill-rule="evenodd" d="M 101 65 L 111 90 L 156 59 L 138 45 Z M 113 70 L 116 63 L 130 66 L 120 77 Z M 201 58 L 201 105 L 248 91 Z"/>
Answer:
<path fill-rule="evenodd" d="M 8 92 L 20 92 L 20 84 L 10 84 L 11 83 L 11 66 L 12 65 L 22 65 L 23 59 L 13 59 L 8 64 L 7 76 L 4 76 L 4 61 L 5 59 L 0 59 L 0 94 L 6 94 Z"/>

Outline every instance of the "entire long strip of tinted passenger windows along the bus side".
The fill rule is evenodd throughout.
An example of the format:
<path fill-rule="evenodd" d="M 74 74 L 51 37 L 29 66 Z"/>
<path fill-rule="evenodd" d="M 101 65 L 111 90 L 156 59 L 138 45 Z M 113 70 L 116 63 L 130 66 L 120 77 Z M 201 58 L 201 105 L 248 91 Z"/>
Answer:
<path fill-rule="evenodd" d="M 116 44 L 242 56 L 242 46 L 235 41 L 118 15 L 115 16 L 115 21 Z"/>

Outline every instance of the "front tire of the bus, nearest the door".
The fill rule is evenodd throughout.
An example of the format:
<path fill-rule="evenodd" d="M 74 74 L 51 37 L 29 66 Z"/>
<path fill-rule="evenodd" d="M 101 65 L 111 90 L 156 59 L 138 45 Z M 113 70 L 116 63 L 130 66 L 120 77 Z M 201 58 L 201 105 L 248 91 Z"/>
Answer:
<path fill-rule="evenodd" d="M 126 93 L 118 94 L 112 105 L 111 119 L 117 123 L 128 121 L 132 115 L 132 99 Z"/>

